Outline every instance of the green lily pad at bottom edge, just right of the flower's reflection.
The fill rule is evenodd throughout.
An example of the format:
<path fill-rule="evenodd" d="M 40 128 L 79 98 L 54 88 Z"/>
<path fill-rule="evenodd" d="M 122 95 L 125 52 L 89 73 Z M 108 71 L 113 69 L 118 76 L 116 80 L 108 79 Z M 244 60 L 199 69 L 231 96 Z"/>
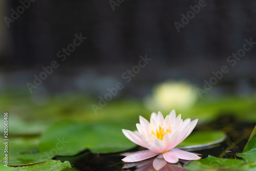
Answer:
<path fill-rule="evenodd" d="M 237 168 L 244 164 L 244 160 L 224 159 L 214 156 L 208 156 L 206 159 L 192 161 L 185 166 L 186 170 L 238 170 Z"/>

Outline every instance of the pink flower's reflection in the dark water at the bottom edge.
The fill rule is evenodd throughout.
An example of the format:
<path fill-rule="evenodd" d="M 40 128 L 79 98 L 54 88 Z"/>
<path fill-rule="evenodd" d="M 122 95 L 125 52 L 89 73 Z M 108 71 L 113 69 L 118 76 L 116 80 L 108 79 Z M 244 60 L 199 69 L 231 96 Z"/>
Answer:
<path fill-rule="evenodd" d="M 155 160 L 156 159 L 156 160 Z M 134 163 L 125 163 L 123 168 L 136 167 L 135 171 L 149 171 L 149 170 L 159 170 L 159 171 L 184 171 L 185 168 L 182 167 L 180 163 L 171 164 L 166 162 L 163 158 L 151 158 L 148 160 L 143 160 Z"/>

